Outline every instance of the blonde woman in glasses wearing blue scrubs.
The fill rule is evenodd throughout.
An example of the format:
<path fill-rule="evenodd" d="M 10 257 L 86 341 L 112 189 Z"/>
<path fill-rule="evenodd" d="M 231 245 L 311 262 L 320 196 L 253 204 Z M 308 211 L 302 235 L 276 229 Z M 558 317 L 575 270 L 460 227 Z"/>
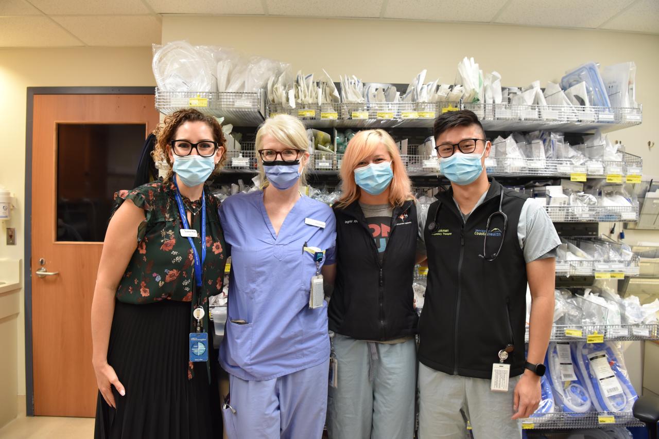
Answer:
<path fill-rule="evenodd" d="M 329 367 L 322 283 L 333 284 L 336 232 L 329 206 L 300 193 L 307 149 L 297 118 L 266 120 L 256 134 L 263 189 L 233 195 L 219 210 L 232 261 L 219 353 L 229 373 L 222 408 L 229 439 L 322 435 Z"/>

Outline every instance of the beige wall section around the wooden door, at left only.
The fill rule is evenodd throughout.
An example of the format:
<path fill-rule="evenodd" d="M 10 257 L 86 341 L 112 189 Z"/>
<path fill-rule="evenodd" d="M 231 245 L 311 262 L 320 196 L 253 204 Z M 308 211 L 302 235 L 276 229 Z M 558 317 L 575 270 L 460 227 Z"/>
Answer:
<path fill-rule="evenodd" d="M 0 186 L 17 194 L 12 219 L 0 225 L 0 258 L 23 258 L 26 89 L 43 86 L 155 86 L 151 48 L 0 49 Z M 16 228 L 17 245 L 5 244 L 6 227 Z M 21 291 L 20 314 L 0 323 L 2 355 L 13 356 L 17 365 L 13 376 L 1 375 L 0 388 L 14 395 L 25 394 L 23 303 Z M 15 399 L 10 401 L 15 410 Z"/>

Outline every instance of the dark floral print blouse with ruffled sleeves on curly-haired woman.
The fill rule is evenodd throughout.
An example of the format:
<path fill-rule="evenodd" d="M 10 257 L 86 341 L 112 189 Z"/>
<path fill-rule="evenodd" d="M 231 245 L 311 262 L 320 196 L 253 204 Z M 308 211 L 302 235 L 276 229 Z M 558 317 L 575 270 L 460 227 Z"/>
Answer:
<path fill-rule="evenodd" d="M 217 217 L 219 202 L 206 196 L 206 261 L 204 261 L 204 284 L 200 292 L 200 303 L 208 310 L 208 296 L 222 290 L 226 263 L 225 242 Z M 188 238 L 181 236 L 181 217 L 176 203 L 176 186 L 161 180 L 147 183 L 132 191 L 115 194 L 114 214 L 127 199 L 144 209 L 145 220 L 137 232 L 137 249 L 133 253 L 126 272 L 117 288 L 117 300 L 125 303 L 153 303 L 159 300 L 194 301 L 194 256 Z M 192 213 L 190 226 L 200 232 L 201 200 L 190 201 L 181 195 L 187 211 Z M 200 238 L 192 238 L 201 257 Z M 208 313 L 207 313 L 208 315 Z"/>

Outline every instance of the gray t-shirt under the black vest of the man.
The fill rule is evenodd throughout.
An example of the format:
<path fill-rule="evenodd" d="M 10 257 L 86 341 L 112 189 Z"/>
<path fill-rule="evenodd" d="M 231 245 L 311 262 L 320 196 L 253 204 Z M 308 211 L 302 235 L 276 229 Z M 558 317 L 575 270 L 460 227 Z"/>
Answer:
<path fill-rule="evenodd" d="M 483 203 L 486 195 L 487 191 L 474 205 L 474 209 Z M 470 214 L 462 213 L 455 198 L 453 198 L 453 201 L 462 214 L 463 222 L 467 222 Z M 420 242 L 424 242 L 423 232 L 426 228 L 427 217 L 427 213 L 420 214 L 418 217 L 418 238 Z M 556 247 L 561 244 L 561 240 L 558 238 L 556 228 L 554 228 L 547 211 L 544 210 L 542 203 L 536 199 L 529 198 L 522 206 L 519 223 L 517 224 L 517 240 L 519 241 L 519 247 L 524 251 L 524 260 L 527 263 L 538 259 L 556 257 Z M 418 245 L 417 252 L 422 255 L 427 254 L 425 243 L 423 246 Z"/>

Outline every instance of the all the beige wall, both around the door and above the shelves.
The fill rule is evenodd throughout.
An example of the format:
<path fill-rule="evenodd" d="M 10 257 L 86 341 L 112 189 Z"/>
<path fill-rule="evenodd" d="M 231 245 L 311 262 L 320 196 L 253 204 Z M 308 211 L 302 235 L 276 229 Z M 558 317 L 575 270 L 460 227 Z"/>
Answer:
<path fill-rule="evenodd" d="M 320 73 L 334 80 L 355 74 L 370 82 L 409 82 L 422 68 L 428 78 L 453 82 L 457 63 L 473 56 L 485 72 L 497 70 L 503 85 L 525 86 L 557 80 L 561 73 L 586 61 L 614 64 L 635 61 L 637 96 L 644 123 L 612 134 L 627 151 L 643 155 L 645 173 L 659 176 L 656 141 L 659 118 L 659 36 L 620 32 L 557 30 L 475 24 L 436 24 L 378 20 L 311 20 L 302 18 L 165 16 L 163 41 L 235 47 L 250 54 L 288 61 L 294 69 Z M 0 185 L 18 194 L 7 226 L 15 227 L 18 245 L 0 236 L 0 258 L 22 258 L 24 251 L 24 160 L 26 88 L 30 86 L 151 86 L 151 49 L 0 49 Z M 658 142 L 659 143 L 659 142 Z M 0 232 L 4 234 L 4 227 Z M 628 233 L 628 241 L 641 235 Z M 21 292 L 22 307 L 22 292 Z M 23 311 L 14 319 L 18 394 L 25 393 Z M 5 326 L 3 322 L 0 326 Z M 13 329 L 3 334 L 11 337 Z M 9 348 L 11 348 L 11 343 Z M 13 349 L 13 348 L 11 348 Z M 4 355 L 3 351 L 3 355 Z M 2 378 L 5 380 L 5 376 Z M 1 396 L 0 396 L 1 397 Z"/>

